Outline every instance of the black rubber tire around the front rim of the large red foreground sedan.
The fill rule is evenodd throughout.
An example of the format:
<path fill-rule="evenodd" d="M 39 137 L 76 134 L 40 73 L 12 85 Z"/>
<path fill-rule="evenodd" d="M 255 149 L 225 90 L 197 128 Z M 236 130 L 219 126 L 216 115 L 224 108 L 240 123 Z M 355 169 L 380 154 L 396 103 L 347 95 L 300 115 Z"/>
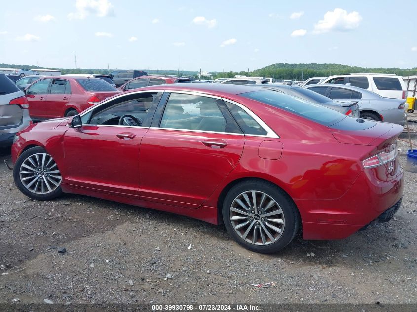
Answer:
<path fill-rule="evenodd" d="M 62 189 L 61 189 L 61 185 L 59 185 L 55 190 L 53 190 L 50 193 L 47 194 L 37 194 L 34 192 L 31 192 L 30 190 L 28 190 L 22 183 L 22 181 L 20 180 L 20 168 L 23 164 L 23 162 L 31 155 L 37 154 L 37 153 L 47 153 L 46 150 L 43 147 L 40 146 L 36 146 L 36 147 L 32 147 L 29 148 L 28 150 L 24 151 L 19 158 L 17 159 L 16 163 L 14 164 L 14 168 L 13 168 L 13 179 L 14 179 L 14 183 L 16 184 L 16 186 L 18 187 L 18 189 L 25 194 L 26 196 L 28 196 L 29 198 L 32 199 L 37 199 L 40 201 L 47 201 L 47 200 L 51 200 L 54 198 L 57 198 L 59 196 L 61 196 L 62 194 Z"/>

